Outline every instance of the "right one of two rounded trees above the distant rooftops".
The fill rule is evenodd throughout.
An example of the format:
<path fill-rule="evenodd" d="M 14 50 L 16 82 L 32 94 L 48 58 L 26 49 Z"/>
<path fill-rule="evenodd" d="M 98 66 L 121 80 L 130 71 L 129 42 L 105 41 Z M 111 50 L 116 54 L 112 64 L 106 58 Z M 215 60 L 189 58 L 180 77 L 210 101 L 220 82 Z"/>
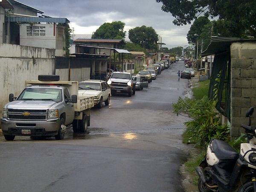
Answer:
<path fill-rule="evenodd" d="M 135 27 L 129 30 L 129 39 L 134 44 L 149 50 L 157 50 L 158 35 L 152 27 Z"/>

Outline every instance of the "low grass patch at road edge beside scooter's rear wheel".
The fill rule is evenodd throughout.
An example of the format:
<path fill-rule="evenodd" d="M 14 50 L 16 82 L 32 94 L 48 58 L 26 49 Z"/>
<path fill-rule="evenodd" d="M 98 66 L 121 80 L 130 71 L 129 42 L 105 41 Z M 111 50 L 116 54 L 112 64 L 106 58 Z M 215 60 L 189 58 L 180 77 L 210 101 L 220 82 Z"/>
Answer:
<path fill-rule="evenodd" d="M 186 170 L 192 175 L 191 183 L 198 184 L 198 175 L 195 172 L 195 168 L 200 165 L 204 159 L 205 152 L 201 151 L 199 154 L 193 154 L 192 157 L 185 163 Z"/>

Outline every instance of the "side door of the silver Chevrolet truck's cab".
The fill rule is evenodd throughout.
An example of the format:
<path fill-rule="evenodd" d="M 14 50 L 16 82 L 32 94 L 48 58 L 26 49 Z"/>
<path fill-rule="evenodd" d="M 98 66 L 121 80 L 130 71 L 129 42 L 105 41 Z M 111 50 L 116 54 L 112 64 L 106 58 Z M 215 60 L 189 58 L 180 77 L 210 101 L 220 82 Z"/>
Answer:
<path fill-rule="evenodd" d="M 64 89 L 64 99 L 65 99 L 65 112 L 66 112 L 66 125 L 73 122 L 75 116 L 74 104 L 68 102 L 71 97 L 67 88 Z"/>

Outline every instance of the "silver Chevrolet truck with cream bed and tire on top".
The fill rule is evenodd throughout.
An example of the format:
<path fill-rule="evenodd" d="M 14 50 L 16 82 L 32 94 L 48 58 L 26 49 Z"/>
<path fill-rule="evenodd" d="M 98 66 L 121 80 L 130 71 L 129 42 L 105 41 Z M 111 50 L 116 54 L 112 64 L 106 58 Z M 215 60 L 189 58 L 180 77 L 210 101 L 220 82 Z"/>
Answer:
<path fill-rule="evenodd" d="M 1 128 L 6 140 L 15 136 L 52 137 L 62 140 L 66 128 L 87 132 L 93 97 L 78 96 L 77 81 L 59 81 L 59 76 L 38 76 L 26 81 L 26 88 L 16 98 L 9 95 L 3 108 Z"/>

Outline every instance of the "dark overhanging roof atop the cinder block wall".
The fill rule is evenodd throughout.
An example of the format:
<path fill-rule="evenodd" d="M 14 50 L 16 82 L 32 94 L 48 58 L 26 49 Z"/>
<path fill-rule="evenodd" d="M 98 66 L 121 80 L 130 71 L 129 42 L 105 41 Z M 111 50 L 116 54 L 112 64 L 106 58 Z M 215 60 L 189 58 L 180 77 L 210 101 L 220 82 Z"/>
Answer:
<path fill-rule="evenodd" d="M 243 39 L 243 38 L 230 38 L 230 37 L 212 37 L 211 43 L 208 45 L 207 49 L 202 52 L 202 57 L 207 55 L 216 55 L 230 49 L 230 45 L 234 42 L 244 42 L 244 41 L 255 41 L 256 39 Z"/>

